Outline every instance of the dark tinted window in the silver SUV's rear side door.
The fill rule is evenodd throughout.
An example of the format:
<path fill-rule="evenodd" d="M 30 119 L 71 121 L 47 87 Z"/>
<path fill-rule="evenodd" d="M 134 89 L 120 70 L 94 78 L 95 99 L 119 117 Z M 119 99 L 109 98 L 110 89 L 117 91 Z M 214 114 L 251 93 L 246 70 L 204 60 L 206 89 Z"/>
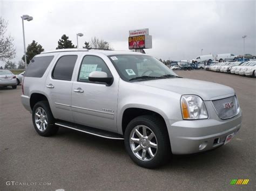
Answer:
<path fill-rule="evenodd" d="M 52 78 L 71 81 L 76 61 L 77 55 L 66 55 L 60 57 L 53 69 Z"/>

